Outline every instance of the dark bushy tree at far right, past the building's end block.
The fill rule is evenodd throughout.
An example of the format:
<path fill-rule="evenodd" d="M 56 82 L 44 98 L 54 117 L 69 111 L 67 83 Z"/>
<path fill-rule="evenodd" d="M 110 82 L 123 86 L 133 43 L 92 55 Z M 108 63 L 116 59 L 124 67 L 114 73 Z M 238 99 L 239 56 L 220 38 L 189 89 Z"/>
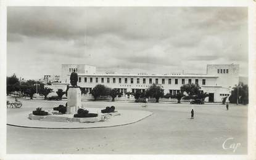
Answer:
<path fill-rule="evenodd" d="M 231 91 L 231 95 L 229 96 L 228 100 L 230 103 L 237 103 L 237 89 L 238 89 L 238 103 L 241 104 L 248 104 L 249 103 L 249 89 L 247 84 L 239 84 L 239 86 L 233 87 Z"/>

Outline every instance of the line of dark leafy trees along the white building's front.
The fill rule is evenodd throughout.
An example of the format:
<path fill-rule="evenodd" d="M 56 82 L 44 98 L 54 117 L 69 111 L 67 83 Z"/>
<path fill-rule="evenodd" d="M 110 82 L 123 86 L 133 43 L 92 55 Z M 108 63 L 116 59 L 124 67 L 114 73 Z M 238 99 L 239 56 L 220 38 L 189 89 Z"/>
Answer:
<path fill-rule="evenodd" d="M 44 87 L 44 84 L 42 82 L 36 82 L 35 80 L 28 80 L 28 81 L 19 81 L 17 76 L 13 74 L 12 76 L 6 78 L 6 91 L 7 95 L 10 93 L 15 93 L 15 95 L 19 97 L 30 97 L 33 98 L 33 95 L 36 94 L 36 86 L 37 86 L 37 92 L 38 94 L 44 95 L 44 99 L 47 98 L 47 95 L 52 92 L 52 89 L 48 87 Z M 81 89 L 81 94 L 86 94 L 86 90 L 84 88 Z M 134 95 L 134 98 L 138 100 L 138 98 L 155 98 L 155 102 L 159 102 L 160 98 L 176 98 L 178 100 L 178 103 L 180 103 L 181 98 L 184 100 L 189 99 L 205 99 L 206 97 L 209 97 L 208 93 L 204 93 L 200 90 L 200 86 L 198 84 L 183 84 L 183 86 L 180 87 L 180 93 L 175 95 L 170 94 L 163 94 L 163 87 L 159 84 L 152 84 L 149 86 L 148 89 L 145 90 L 145 92 L 141 92 L 140 89 L 135 90 L 134 93 L 127 92 L 128 95 Z M 62 96 L 64 94 L 67 95 L 67 89 L 64 91 L 62 89 L 58 89 L 56 94 L 58 95 L 59 99 L 62 99 Z M 186 92 L 186 95 L 184 95 L 184 92 Z M 238 92 L 238 94 L 237 94 Z M 118 92 L 118 89 L 111 89 L 109 87 L 106 87 L 102 84 L 97 84 L 92 90 L 91 94 L 94 97 L 94 100 L 97 100 L 97 98 L 101 96 L 110 96 L 112 97 L 112 101 L 115 101 L 115 98 L 121 97 L 122 93 Z M 238 96 L 238 97 L 237 97 Z M 227 97 L 223 98 L 226 100 Z M 246 84 L 239 84 L 239 86 L 234 86 L 233 90 L 231 92 L 231 95 L 229 96 L 229 102 L 230 103 L 238 103 L 241 104 L 248 104 L 249 103 L 249 91 L 248 86 Z"/>

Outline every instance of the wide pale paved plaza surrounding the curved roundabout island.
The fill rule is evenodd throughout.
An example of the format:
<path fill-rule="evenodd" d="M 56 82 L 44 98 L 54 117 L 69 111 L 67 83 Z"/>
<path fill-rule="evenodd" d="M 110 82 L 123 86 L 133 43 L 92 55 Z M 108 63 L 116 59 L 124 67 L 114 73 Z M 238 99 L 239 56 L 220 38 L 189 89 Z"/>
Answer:
<path fill-rule="evenodd" d="M 13 100 L 8 98 L 9 100 Z M 65 101 L 20 100 L 13 114 L 52 109 Z M 7 154 L 247 154 L 247 106 L 188 103 L 82 102 L 85 108 L 149 111 L 125 126 L 93 129 L 34 129 L 7 126 Z M 190 111 L 194 109 L 194 119 Z M 25 114 L 24 116 L 28 116 Z M 51 122 L 49 122 L 51 123 Z M 229 138 L 229 139 L 228 139 Z M 228 140 L 227 140 L 228 139 Z M 236 151 L 229 148 L 240 143 Z"/>

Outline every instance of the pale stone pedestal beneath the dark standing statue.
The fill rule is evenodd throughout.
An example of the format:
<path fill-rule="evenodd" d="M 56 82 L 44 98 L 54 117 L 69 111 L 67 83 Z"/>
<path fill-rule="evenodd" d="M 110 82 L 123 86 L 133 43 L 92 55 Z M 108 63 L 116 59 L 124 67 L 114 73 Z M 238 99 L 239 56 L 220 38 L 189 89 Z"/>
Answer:
<path fill-rule="evenodd" d="M 67 94 L 67 114 L 76 114 L 77 110 L 81 108 L 81 90 L 70 87 Z"/>

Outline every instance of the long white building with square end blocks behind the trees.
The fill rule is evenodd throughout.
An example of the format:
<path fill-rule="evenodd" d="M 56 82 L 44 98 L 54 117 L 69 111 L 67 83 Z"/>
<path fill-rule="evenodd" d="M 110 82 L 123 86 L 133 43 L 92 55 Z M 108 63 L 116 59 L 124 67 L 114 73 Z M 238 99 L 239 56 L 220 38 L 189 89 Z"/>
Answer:
<path fill-rule="evenodd" d="M 180 93 L 183 84 L 199 84 L 201 90 L 209 93 L 209 102 L 221 102 L 221 98 L 229 96 L 239 82 L 239 65 L 207 65 L 206 74 L 117 74 L 96 73 L 95 66 L 89 65 L 62 65 L 61 83 L 53 86 L 65 89 L 70 83 L 70 74 L 75 70 L 78 73 L 78 86 L 88 93 L 97 84 L 104 84 L 116 88 L 122 93 L 135 92 L 141 89 L 144 92 L 151 84 L 160 84 L 164 94 L 175 95 Z"/>

